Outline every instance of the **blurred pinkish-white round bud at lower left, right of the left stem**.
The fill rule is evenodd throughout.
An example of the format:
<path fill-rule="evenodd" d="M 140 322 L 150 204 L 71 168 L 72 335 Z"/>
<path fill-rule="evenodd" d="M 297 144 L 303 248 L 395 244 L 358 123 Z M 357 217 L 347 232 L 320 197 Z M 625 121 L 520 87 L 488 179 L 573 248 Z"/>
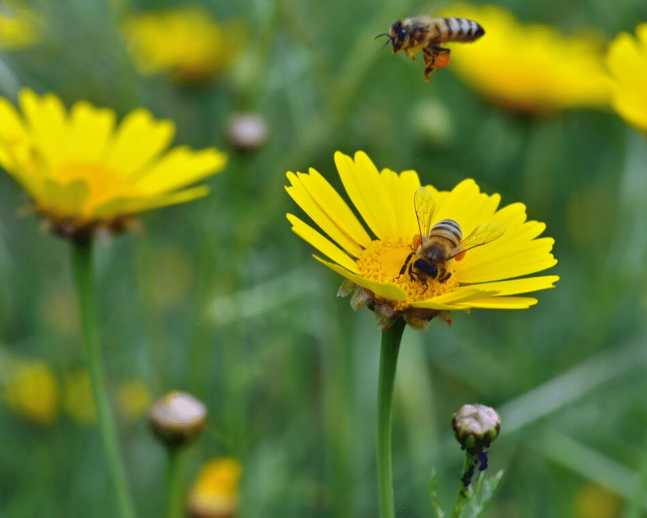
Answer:
<path fill-rule="evenodd" d="M 167 447 L 181 447 L 198 438 L 207 422 L 207 408 L 191 395 L 173 391 L 153 403 L 149 421 Z"/>

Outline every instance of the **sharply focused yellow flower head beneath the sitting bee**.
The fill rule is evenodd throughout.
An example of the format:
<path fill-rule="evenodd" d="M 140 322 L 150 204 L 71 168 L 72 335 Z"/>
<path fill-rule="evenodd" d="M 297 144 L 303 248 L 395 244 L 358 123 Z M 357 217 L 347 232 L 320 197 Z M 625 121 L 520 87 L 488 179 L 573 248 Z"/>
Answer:
<path fill-rule="evenodd" d="M 292 214 L 288 220 L 294 233 L 332 262 L 314 256 L 316 260 L 346 277 L 340 295 L 354 291 L 353 308 L 375 310 L 382 325 L 388 326 L 402 315 L 409 325 L 426 328 L 437 315 L 448 319 L 448 310 L 528 308 L 537 300 L 512 295 L 552 288 L 559 279 L 555 275 L 515 278 L 556 264 L 550 254 L 554 241 L 537 238 L 546 225 L 526 221 L 523 204 L 497 210 L 500 196 L 481 193 L 474 180 L 464 180 L 449 192 L 427 186 L 435 197 L 431 225 L 453 219 L 468 236 L 477 225 L 494 223 L 503 228 L 503 235 L 448 260 L 444 266 L 451 276 L 445 282 L 439 282 L 440 275 L 411 276 L 408 269 L 400 275 L 407 256 L 420 243 L 414 209 L 418 174 L 404 171 L 398 175 L 390 169 L 379 172 L 362 151 L 355 153 L 355 160 L 337 152 L 335 164 L 348 197 L 377 239 L 366 232 L 342 197 L 314 169 L 309 174 L 288 172 L 292 186 L 286 190 L 337 244 Z M 416 273 L 420 271 L 414 269 Z"/>

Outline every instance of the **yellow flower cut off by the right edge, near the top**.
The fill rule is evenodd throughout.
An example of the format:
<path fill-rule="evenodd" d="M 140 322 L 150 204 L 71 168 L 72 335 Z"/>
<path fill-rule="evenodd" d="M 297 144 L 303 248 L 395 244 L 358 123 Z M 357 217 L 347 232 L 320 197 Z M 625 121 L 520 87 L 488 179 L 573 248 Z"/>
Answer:
<path fill-rule="evenodd" d="M 622 33 L 609 47 L 611 102 L 622 119 L 647 134 L 647 23 L 636 27 L 636 36 Z"/>

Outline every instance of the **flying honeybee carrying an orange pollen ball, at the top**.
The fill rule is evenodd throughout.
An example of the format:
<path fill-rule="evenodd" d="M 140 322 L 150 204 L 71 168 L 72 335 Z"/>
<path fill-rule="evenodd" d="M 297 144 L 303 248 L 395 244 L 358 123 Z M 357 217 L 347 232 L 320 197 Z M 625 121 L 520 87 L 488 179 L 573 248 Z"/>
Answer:
<path fill-rule="evenodd" d="M 470 42 L 481 38 L 485 30 L 481 25 L 467 18 L 429 18 L 429 16 L 416 16 L 405 21 L 398 20 L 391 25 L 390 33 L 375 36 L 387 36 L 393 45 L 393 53 L 405 51 L 412 60 L 414 54 L 422 51 L 422 58 L 426 68 L 424 79 L 429 81 L 429 76 L 437 68 L 449 64 L 449 49 L 441 47 L 441 43 L 448 41 Z M 384 48 L 382 47 L 382 48 Z M 440 58 L 440 59 L 439 59 Z"/>

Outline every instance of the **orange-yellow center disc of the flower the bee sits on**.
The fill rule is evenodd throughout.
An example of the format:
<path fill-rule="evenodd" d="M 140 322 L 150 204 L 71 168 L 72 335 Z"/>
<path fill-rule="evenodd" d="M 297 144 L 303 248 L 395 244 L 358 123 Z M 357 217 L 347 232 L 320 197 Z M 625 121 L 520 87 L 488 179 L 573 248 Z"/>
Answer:
<path fill-rule="evenodd" d="M 359 268 L 359 275 L 361 277 L 376 282 L 396 284 L 396 286 L 407 292 L 409 296 L 406 300 L 392 301 L 393 307 L 396 310 L 407 308 L 411 302 L 428 300 L 443 293 L 449 293 L 458 286 L 458 281 L 454 275 L 443 283 L 429 276 L 424 276 L 424 274 L 421 274 L 420 280 L 415 277 L 411 279 L 408 265 L 405 273 L 400 275 L 407 256 L 411 254 L 411 251 L 414 251 L 414 247 L 411 245 L 413 242 L 413 239 L 409 240 L 408 243 L 403 239 L 397 241 L 375 240 L 357 258 L 357 267 Z M 414 254 L 410 261 L 413 262 L 415 260 L 416 255 Z M 453 273 L 453 261 L 449 261 L 446 264 L 446 268 L 448 273 Z M 427 282 L 427 286 L 424 286 L 424 282 L 422 281 L 423 277 Z"/>

